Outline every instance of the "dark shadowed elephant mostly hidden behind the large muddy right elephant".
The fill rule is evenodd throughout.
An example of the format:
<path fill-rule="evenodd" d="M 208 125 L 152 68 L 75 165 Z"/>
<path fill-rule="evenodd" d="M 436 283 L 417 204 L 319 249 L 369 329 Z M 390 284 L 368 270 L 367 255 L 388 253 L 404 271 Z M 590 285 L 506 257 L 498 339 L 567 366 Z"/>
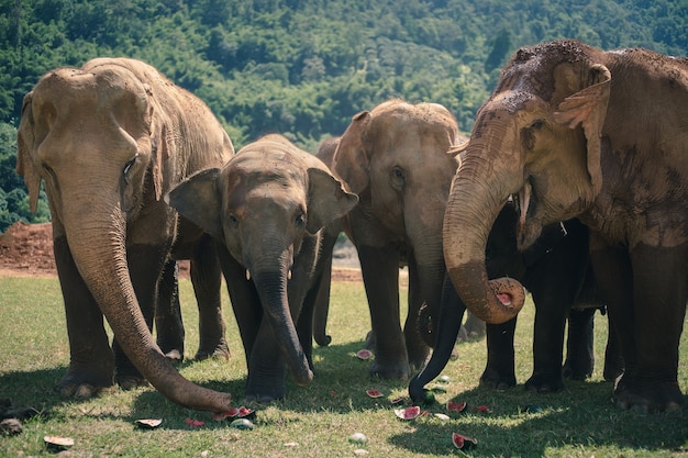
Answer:
<path fill-rule="evenodd" d="M 556 392 L 564 378 L 585 380 L 595 367 L 593 316 L 604 304 L 599 297 L 588 255 L 588 228 L 578 220 L 551 224 L 524 252 L 517 247 L 519 214 L 507 202 L 497 215 L 486 246 L 486 267 L 490 278 L 508 276 L 519 280 L 532 294 L 535 304 L 533 332 L 533 373 L 525 388 L 536 392 Z M 447 364 L 458 324 L 466 310 L 451 281 L 445 286 L 441 320 L 434 320 L 434 353 L 428 365 L 409 383 L 414 401 L 424 401 L 423 386 L 436 378 Z M 447 309 L 447 310 L 444 310 Z M 426 319 L 425 319 L 426 320 Z M 562 367 L 564 331 L 568 320 L 566 361 Z M 487 325 L 487 367 L 480 384 L 507 389 L 517 384 L 513 337 L 517 317 L 503 324 Z M 609 327 L 604 378 L 615 379 L 623 371 L 623 360 L 613 326 Z"/>

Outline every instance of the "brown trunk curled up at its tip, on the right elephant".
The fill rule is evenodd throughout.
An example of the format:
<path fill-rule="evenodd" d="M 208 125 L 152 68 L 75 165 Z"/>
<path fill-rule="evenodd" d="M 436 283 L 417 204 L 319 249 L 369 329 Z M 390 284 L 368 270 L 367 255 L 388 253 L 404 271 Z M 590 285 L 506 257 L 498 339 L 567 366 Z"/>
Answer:
<path fill-rule="evenodd" d="M 504 132 L 502 132 L 504 134 Z M 510 193 L 519 190 L 518 172 L 507 170 L 518 161 L 489 161 L 507 145 L 508 135 L 471 138 L 454 181 L 444 216 L 444 258 L 452 282 L 466 308 L 487 323 L 513 319 L 525 295 L 518 281 L 488 282 L 485 248 L 492 224 Z M 495 139 L 500 138 L 500 139 Z M 507 161 L 504 161 L 507 163 Z M 510 178 L 512 182 L 510 182 Z"/>

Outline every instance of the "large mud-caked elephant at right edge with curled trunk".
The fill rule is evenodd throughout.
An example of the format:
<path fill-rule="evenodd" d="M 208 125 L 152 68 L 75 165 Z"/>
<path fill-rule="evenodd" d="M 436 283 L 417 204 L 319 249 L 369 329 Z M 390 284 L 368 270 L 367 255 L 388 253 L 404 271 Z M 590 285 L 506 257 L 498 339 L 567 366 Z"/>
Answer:
<path fill-rule="evenodd" d="M 640 89 L 642 88 L 642 90 Z M 509 196 L 520 248 L 578 217 L 621 340 L 620 407 L 679 410 L 688 295 L 688 60 L 575 41 L 518 51 L 480 108 L 445 215 L 444 253 L 469 310 L 514 316 L 487 287 L 485 245 Z"/>

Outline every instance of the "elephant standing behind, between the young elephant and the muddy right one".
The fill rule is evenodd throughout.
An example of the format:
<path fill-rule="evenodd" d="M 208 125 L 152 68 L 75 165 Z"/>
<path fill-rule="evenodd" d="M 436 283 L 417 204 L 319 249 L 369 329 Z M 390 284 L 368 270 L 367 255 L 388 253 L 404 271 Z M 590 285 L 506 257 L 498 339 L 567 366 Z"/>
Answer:
<path fill-rule="evenodd" d="M 446 152 L 466 138 L 436 103 L 389 100 L 356 114 L 334 153 L 333 170 L 359 197 L 345 217 L 365 284 L 375 360 L 370 372 L 408 378 L 429 354 L 417 323 L 421 304 L 440 304 L 445 267 L 442 222 L 457 159 Z M 409 312 L 399 314 L 399 267 L 409 267 Z"/>

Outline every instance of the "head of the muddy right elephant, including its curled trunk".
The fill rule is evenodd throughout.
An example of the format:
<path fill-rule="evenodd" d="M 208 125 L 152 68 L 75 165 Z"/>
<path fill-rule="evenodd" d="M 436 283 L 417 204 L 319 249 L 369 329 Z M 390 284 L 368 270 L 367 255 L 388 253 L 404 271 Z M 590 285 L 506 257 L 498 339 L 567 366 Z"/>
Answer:
<path fill-rule="evenodd" d="M 447 269 L 466 306 L 488 323 L 515 316 L 487 287 L 485 247 L 510 196 L 518 245 L 542 227 L 586 211 L 601 188 L 601 132 L 609 70 L 575 42 L 519 51 L 478 111 L 452 185 L 444 220 Z"/>

